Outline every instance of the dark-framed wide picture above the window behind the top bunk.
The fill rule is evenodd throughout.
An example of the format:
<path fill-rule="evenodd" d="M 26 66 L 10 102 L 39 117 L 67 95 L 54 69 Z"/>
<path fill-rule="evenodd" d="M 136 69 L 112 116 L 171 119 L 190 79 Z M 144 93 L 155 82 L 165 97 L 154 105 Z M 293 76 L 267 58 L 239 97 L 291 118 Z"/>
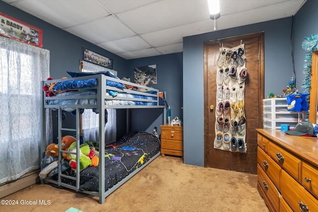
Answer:
<path fill-rule="evenodd" d="M 81 47 L 81 52 L 83 61 L 96 64 L 107 69 L 113 69 L 113 59 L 102 56 L 83 46 Z"/>

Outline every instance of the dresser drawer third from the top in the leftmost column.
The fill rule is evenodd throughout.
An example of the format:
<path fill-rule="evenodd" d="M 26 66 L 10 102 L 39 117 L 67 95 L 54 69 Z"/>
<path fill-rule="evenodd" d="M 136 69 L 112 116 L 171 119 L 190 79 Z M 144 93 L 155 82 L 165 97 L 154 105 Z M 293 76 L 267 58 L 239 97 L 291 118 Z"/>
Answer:
<path fill-rule="evenodd" d="M 274 183 L 268 178 L 259 164 L 257 164 L 257 181 L 261 185 L 262 190 L 266 194 L 275 211 L 278 212 L 280 194 Z"/>

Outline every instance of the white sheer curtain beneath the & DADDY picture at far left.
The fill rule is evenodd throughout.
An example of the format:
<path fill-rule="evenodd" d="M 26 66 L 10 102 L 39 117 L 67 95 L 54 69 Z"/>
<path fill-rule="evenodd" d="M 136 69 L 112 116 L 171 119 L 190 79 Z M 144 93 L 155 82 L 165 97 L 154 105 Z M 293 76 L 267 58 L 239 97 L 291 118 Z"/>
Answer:
<path fill-rule="evenodd" d="M 0 184 L 40 167 L 41 80 L 50 52 L 0 36 Z"/>

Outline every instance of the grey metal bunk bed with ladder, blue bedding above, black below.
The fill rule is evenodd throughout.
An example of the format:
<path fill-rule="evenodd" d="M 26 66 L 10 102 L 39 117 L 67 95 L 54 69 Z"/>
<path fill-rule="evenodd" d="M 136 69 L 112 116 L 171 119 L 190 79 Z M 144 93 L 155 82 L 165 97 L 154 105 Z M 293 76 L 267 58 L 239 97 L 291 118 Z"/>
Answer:
<path fill-rule="evenodd" d="M 120 80 L 118 77 L 104 73 L 81 74 L 78 77 L 46 80 L 42 81 L 42 85 L 48 85 L 51 88 L 47 92 L 42 92 L 41 161 L 48 145 L 45 129 L 47 109 L 58 111 L 59 155 L 57 174 L 54 177 L 41 178 L 41 183 L 53 183 L 57 187 L 65 187 L 97 196 L 99 203 L 103 204 L 108 195 L 160 155 L 160 141 L 152 133 L 130 132 L 121 140 L 111 144 L 105 144 L 104 133 L 99 133 L 98 166 L 89 166 L 80 170 L 79 165 L 77 165 L 75 170 L 70 168 L 63 170 L 62 154 L 70 152 L 62 150 L 62 132 L 75 133 L 77 145 L 74 154 L 77 156 L 76 163 L 79 164 L 80 114 L 85 109 L 93 109 L 95 113 L 98 113 L 99 132 L 104 132 L 103 129 L 107 122 L 106 109 L 161 108 L 163 109 L 163 123 L 166 123 L 166 102 L 159 97 L 161 92 L 157 89 Z M 133 89 L 126 89 L 127 85 Z M 53 87 L 54 89 L 52 89 Z M 52 92 L 51 95 L 48 95 L 48 92 Z M 76 114 L 75 129 L 63 128 L 62 113 L 65 111 Z M 140 142 L 137 143 L 137 141 Z M 132 146 L 134 146 L 133 149 L 131 149 Z M 118 155 L 113 151 L 116 151 Z M 110 155 L 115 159 L 109 160 Z M 131 157 L 120 157 L 120 155 L 130 155 Z M 131 161 L 128 158 L 132 158 Z M 114 160 L 119 161 L 119 163 L 115 163 Z M 114 167 L 108 167 L 111 165 L 109 161 L 114 163 Z"/>

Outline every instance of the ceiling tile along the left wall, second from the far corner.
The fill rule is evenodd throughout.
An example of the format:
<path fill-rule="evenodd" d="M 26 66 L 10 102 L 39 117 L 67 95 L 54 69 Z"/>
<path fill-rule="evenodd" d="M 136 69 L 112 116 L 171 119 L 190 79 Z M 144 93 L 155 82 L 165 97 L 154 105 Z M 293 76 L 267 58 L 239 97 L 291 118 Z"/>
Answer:
<path fill-rule="evenodd" d="M 139 36 L 133 36 L 110 42 L 98 43 L 97 45 L 107 49 L 108 51 L 114 54 L 149 49 L 152 47 Z"/>

